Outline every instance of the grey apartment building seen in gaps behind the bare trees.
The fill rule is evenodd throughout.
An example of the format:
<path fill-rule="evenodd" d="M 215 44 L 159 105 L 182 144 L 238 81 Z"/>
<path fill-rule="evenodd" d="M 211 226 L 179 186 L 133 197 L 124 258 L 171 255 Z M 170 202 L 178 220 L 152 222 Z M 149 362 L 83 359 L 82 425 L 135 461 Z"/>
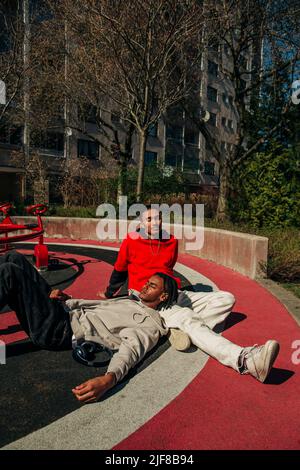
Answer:
<path fill-rule="evenodd" d="M 30 6 L 30 0 L 21 2 L 15 0 L 15 2 L 21 4 L 23 9 L 26 5 L 27 8 Z M 25 18 L 26 15 L 23 16 Z M 207 126 L 211 134 L 219 143 L 221 151 L 225 152 L 235 143 L 238 120 L 234 106 L 234 90 L 223 74 L 226 64 L 230 66 L 230 55 L 226 47 L 220 45 L 218 48 L 207 50 L 202 55 L 201 61 L 200 106 L 209 117 Z M 250 67 L 251 52 L 244 57 L 244 61 L 245 70 L 247 70 Z M 220 62 L 222 62 L 222 72 Z M 249 77 L 250 74 L 247 78 L 245 77 L 245 85 L 246 80 L 250 80 Z M 106 112 L 105 118 L 112 126 L 116 126 L 122 135 L 122 123 L 113 110 L 111 113 Z M 92 165 L 101 166 L 103 159 L 111 158 L 96 141 L 101 141 L 102 136 L 99 134 L 92 109 L 86 113 L 82 127 L 96 140 L 78 130 L 71 131 L 67 125 L 69 119 L 70 116 L 66 116 L 66 110 L 62 110 L 61 127 L 58 127 L 55 132 L 49 130 L 31 136 L 28 144 L 31 151 L 39 152 L 49 167 L 50 200 L 55 198 L 55 193 L 51 191 L 51 181 L 59 175 L 64 159 L 84 156 Z M 24 127 L 14 128 L 7 122 L 0 123 L 0 201 L 22 199 L 26 195 L 24 170 L 16 167 L 11 159 L 13 152 L 22 146 L 24 148 L 24 145 L 26 145 Z M 135 138 L 133 160 L 138 155 L 138 145 L 138 139 Z M 218 162 L 214 159 L 197 126 L 179 107 L 168 110 L 149 131 L 145 165 L 153 163 L 160 163 L 168 167 L 169 171 L 175 168 L 182 171 L 191 192 L 216 193 L 218 191 Z"/>

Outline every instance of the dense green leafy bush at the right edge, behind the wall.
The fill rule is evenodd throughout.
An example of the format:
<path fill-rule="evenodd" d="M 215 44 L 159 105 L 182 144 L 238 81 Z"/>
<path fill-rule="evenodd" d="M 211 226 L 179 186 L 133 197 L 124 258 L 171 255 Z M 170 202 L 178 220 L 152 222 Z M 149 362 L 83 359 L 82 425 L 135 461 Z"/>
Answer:
<path fill-rule="evenodd" d="M 231 219 L 254 227 L 300 227 L 300 155 L 276 142 L 235 175 Z"/>

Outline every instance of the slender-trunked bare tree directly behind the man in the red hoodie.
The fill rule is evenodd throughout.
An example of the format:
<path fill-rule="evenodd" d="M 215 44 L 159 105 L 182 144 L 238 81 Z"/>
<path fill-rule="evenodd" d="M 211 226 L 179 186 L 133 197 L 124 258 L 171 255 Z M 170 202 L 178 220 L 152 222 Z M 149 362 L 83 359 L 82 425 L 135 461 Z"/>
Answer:
<path fill-rule="evenodd" d="M 70 76 L 99 111 L 104 136 L 114 135 L 121 156 L 134 130 L 139 136 L 139 198 L 148 130 L 188 94 L 199 70 L 201 2 L 64 0 L 59 14 L 68 25 Z M 127 134 L 124 147 L 104 118 L 111 111 Z"/>

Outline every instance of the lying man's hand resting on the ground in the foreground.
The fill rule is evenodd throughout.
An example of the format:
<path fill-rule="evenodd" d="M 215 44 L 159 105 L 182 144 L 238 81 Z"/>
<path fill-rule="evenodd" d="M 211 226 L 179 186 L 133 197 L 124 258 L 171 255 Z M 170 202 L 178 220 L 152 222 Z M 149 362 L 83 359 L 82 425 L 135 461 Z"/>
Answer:
<path fill-rule="evenodd" d="M 81 403 L 95 403 L 116 384 L 116 376 L 112 372 L 90 379 L 73 388 L 72 392 Z"/>

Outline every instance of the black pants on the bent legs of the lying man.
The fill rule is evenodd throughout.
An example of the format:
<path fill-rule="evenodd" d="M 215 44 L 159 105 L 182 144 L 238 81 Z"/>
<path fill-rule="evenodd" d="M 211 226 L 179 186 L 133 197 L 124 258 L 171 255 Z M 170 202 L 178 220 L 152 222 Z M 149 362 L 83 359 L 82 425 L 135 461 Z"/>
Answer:
<path fill-rule="evenodd" d="M 72 330 L 63 304 L 49 298 L 51 287 L 25 256 L 0 256 L 0 310 L 14 310 L 32 342 L 43 349 L 71 347 Z"/>

